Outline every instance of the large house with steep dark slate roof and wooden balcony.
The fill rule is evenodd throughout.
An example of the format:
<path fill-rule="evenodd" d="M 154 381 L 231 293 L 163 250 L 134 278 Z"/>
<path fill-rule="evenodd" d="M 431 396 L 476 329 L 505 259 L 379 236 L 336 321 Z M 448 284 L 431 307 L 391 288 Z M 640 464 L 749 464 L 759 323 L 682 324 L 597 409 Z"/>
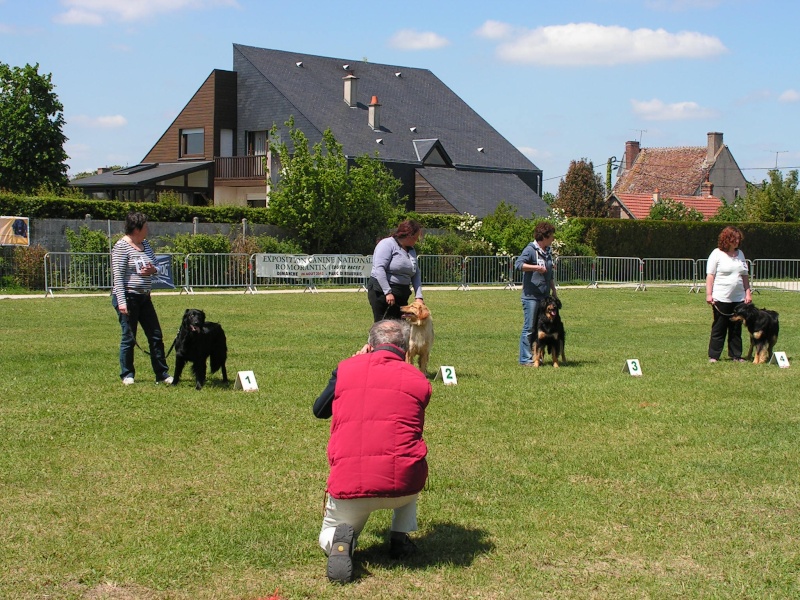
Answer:
<path fill-rule="evenodd" d="M 181 193 L 187 203 L 265 206 L 279 176 L 273 126 L 311 144 L 330 128 L 350 160 L 377 152 L 407 209 L 483 217 L 501 202 L 547 214 L 542 171 L 427 69 L 234 44 L 140 165 L 71 185 L 101 197 Z M 166 171 L 160 177 L 158 170 Z"/>

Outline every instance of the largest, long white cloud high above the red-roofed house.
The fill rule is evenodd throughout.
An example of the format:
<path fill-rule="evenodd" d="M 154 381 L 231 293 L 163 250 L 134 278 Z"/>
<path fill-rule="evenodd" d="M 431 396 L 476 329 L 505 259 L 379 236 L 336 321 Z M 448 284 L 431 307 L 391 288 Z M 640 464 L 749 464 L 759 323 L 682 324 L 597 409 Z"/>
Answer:
<path fill-rule="evenodd" d="M 613 66 L 679 58 L 710 58 L 727 52 L 716 37 L 691 31 L 627 29 L 594 23 L 550 25 L 536 29 L 487 21 L 478 34 L 503 32 L 497 56 L 506 62 L 541 66 Z M 496 39 L 496 38 L 492 38 Z"/>

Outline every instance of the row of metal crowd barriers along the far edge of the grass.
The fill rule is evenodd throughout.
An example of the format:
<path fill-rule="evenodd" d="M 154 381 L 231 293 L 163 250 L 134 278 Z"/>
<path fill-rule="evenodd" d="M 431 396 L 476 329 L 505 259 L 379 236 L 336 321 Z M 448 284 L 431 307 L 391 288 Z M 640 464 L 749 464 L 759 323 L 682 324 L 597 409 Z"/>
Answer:
<path fill-rule="evenodd" d="M 188 293 L 192 293 L 194 288 L 241 289 L 246 293 L 257 291 L 256 286 L 303 286 L 313 291 L 317 284 L 356 286 L 363 291 L 367 282 L 363 276 L 330 276 L 324 279 L 256 277 L 256 256 L 173 254 L 170 255 L 172 279 L 176 288 Z M 508 289 L 522 283 L 522 272 L 514 268 L 515 258 L 421 255 L 419 267 L 423 285 L 426 286 L 452 285 L 467 290 L 473 285 L 499 285 Z M 5 260 L 3 263 L 2 275 L 13 277 L 13 270 L 6 268 L 7 262 Z M 707 259 L 559 256 L 554 268 L 559 286 L 627 286 L 646 290 L 648 285 L 686 285 L 689 291 L 700 292 L 705 287 L 706 264 Z M 44 257 L 43 267 L 44 288 L 48 296 L 54 295 L 56 290 L 102 290 L 112 286 L 111 257 L 106 253 L 49 252 Z M 798 259 L 758 259 L 748 261 L 748 268 L 755 291 L 775 289 L 800 292 Z M 154 286 L 154 289 L 157 287 Z"/>

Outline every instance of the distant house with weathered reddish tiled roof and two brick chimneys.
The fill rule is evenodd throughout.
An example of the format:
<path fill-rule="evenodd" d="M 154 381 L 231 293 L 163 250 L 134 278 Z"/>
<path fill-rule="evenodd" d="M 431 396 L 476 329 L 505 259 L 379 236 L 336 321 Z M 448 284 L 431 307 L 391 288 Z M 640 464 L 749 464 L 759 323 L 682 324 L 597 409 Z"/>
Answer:
<path fill-rule="evenodd" d="M 694 203 L 708 218 L 713 215 L 708 214 L 713 206 L 722 204 L 721 199 L 733 202 L 746 191 L 747 181 L 730 149 L 723 144 L 722 134 L 711 132 L 705 146 L 641 148 L 639 142 L 626 142 L 608 202 L 612 216 L 645 218 L 640 216 L 641 208 L 631 207 L 641 197 L 652 198 L 655 194 L 687 206 Z M 714 202 L 704 200 L 709 197 Z"/>

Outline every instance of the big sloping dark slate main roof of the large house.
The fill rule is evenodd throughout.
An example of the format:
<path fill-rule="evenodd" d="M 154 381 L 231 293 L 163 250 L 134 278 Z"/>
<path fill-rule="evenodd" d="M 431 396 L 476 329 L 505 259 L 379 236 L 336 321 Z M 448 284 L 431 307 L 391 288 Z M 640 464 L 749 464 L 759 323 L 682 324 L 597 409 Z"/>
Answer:
<path fill-rule="evenodd" d="M 359 78 L 357 108 L 344 101 L 344 65 Z M 262 97 L 277 108 L 275 124 L 282 126 L 294 110 L 316 128 L 318 137 L 330 127 L 347 155 L 377 150 L 384 161 L 419 164 L 414 142 L 419 148 L 420 140 L 439 140 L 456 167 L 541 171 L 427 69 L 234 44 L 234 70 L 250 77 L 253 69 L 264 78 Z M 367 121 L 373 96 L 381 105 L 380 131 Z"/>

